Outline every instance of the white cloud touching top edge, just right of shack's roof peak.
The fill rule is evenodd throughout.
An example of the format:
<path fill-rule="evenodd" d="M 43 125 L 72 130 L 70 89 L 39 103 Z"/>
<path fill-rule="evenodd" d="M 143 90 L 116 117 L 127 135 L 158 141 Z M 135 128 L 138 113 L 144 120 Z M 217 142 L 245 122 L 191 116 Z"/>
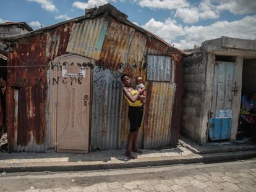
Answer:
<path fill-rule="evenodd" d="M 151 9 L 178 9 L 188 7 L 187 0 L 134 0 L 140 7 L 150 7 Z"/>

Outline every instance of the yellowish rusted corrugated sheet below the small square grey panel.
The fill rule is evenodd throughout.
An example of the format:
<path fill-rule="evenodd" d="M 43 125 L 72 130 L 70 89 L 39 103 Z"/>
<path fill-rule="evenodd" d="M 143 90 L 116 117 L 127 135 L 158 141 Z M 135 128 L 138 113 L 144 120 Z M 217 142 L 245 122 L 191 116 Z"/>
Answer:
<path fill-rule="evenodd" d="M 169 146 L 176 83 L 149 82 L 143 148 Z"/>

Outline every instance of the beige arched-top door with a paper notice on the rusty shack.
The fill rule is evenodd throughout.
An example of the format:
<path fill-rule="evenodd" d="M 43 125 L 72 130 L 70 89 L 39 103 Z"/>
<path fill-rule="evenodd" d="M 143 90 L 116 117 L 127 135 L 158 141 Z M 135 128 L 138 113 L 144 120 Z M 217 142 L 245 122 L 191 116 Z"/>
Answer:
<path fill-rule="evenodd" d="M 90 128 L 90 90 L 93 60 L 69 54 L 58 61 L 56 148 L 58 152 L 87 153 Z"/>

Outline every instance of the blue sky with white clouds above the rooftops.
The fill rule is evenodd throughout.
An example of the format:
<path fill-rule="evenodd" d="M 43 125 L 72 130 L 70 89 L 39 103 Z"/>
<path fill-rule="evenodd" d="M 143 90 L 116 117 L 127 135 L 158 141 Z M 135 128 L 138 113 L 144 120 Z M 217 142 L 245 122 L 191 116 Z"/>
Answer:
<path fill-rule="evenodd" d="M 177 48 L 221 36 L 256 39 L 255 0 L 0 0 L 0 23 L 27 22 L 33 29 L 84 15 L 110 2 L 140 27 Z"/>

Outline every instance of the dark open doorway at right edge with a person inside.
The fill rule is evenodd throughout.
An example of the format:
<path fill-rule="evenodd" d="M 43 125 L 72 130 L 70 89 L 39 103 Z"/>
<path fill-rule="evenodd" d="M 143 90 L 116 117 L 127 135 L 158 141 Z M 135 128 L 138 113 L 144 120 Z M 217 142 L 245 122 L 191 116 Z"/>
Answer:
<path fill-rule="evenodd" d="M 256 141 L 256 59 L 244 59 L 237 141 Z"/>

